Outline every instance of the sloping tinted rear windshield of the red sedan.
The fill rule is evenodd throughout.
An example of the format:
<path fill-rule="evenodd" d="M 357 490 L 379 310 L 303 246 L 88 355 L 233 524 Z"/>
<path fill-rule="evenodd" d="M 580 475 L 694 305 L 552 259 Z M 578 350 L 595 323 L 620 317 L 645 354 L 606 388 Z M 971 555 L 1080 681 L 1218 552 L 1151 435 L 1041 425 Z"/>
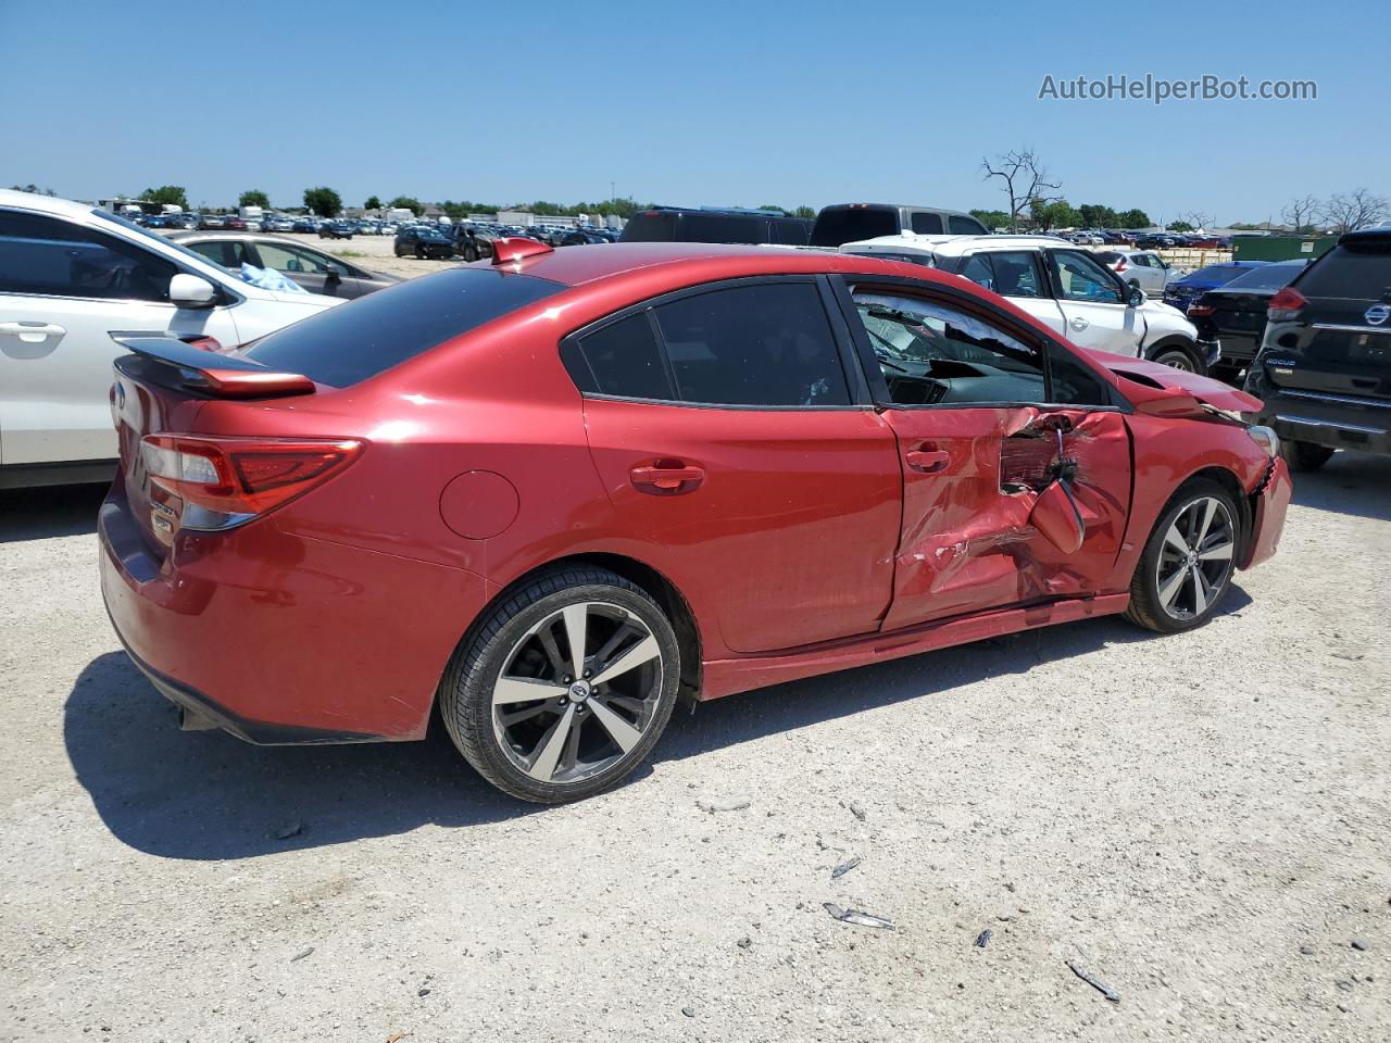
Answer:
<path fill-rule="evenodd" d="M 274 370 L 346 388 L 563 289 L 534 275 L 441 271 L 330 307 L 263 337 L 246 355 Z"/>

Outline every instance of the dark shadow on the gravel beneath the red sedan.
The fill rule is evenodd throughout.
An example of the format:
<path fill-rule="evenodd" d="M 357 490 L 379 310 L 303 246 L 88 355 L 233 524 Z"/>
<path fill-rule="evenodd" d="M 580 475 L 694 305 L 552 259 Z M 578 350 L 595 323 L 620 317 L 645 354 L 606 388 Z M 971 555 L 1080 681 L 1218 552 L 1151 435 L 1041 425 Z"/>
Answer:
<path fill-rule="evenodd" d="M 1245 592 L 1232 588 L 1227 611 L 1245 604 Z M 985 677 L 1141 640 L 1163 638 L 1117 619 L 1085 620 L 733 695 L 693 715 L 677 709 L 652 761 L 942 697 Z M 541 811 L 477 777 L 438 726 L 424 743 L 337 747 L 267 748 L 217 731 L 179 731 L 174 706 L 122 652 L 93 659 L 78 677 L 64 741 L 111 833 L 167 858 L 253 858 L 426 823 L 473 826 Z M 650 772 L 644 766 L 636 777 Z M 277 837 L 296 826 L 292 836 Z"/>

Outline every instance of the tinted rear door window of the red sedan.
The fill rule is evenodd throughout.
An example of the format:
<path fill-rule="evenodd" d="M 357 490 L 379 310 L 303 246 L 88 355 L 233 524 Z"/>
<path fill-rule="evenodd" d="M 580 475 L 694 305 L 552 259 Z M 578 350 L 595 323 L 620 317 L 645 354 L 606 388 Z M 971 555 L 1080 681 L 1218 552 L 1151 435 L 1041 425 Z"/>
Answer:
<path fill-rule="evenodd" d="M 844 406 L 846 374 L 811 282 L 697 293 L 657 307 L 683 402 Z"/>

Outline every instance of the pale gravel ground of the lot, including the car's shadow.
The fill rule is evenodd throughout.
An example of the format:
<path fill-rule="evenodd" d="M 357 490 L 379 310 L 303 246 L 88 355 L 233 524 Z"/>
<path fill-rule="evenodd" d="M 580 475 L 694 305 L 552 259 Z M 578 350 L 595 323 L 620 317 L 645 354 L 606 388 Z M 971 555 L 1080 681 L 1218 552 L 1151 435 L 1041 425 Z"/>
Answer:
<path fill-rule="evenodd" d="M 736 695 L 555 809 L 440 736 L 178 731 L 99 498 L 0 498 L 0 1040 L 1391 1037 L 1391 459 L 1303 477 L 1198 633 Z"/>

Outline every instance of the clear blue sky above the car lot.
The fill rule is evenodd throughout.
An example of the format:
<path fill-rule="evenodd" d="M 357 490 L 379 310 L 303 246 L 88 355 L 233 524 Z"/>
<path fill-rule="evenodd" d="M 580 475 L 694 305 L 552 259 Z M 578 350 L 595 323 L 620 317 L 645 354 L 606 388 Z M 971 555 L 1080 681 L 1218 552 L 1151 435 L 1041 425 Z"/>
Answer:
<path fill-rule="evenodd" d="M 1032 146 L 1074 203 L 1278 220 L 1391 195 L 1384 3 L 0 0 L 0 184 L 569 203 L 1000 207 Z M 1042 13 L 1042 14 L 1040 14 Z M 1316 102 L 1039 100 L 1046 74 L 1313 79 Z"/>

